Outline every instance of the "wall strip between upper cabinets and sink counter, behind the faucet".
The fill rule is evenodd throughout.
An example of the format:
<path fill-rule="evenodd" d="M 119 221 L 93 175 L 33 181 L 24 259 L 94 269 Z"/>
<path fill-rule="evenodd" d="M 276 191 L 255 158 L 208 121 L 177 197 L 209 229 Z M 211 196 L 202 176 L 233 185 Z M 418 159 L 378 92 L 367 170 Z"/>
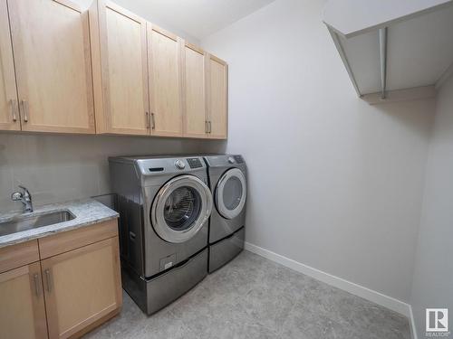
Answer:
<path fill-rule="evenodd" d="M 221 152 L 223 142 L 156 137 L 0 134 L 0 212 L 22 210 L 12 202 L 17 185 L 34 205 L 111 193 L 108 157 L 114 155 Z"/>

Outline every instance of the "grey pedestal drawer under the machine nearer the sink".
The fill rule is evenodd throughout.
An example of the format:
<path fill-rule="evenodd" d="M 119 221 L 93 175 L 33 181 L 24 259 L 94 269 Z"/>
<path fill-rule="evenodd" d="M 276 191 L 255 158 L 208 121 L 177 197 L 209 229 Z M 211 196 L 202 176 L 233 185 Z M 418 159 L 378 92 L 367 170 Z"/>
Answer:
<path fill-rule="evenodd" d="M 155 278 L 144 279 L 123 267 L 122 285 L 147 315 L 168 306 L 207 276 L 207 249 Z"/>

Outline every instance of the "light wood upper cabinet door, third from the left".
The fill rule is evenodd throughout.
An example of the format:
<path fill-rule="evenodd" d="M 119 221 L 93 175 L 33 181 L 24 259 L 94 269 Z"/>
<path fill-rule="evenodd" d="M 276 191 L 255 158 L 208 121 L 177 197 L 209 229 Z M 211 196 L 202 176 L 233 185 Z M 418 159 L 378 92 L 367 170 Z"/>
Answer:
<path fill-rule="evenodd" d="M 98 133 L 148 135 L 146 22 L 103 0 L 90 21 Z"/>

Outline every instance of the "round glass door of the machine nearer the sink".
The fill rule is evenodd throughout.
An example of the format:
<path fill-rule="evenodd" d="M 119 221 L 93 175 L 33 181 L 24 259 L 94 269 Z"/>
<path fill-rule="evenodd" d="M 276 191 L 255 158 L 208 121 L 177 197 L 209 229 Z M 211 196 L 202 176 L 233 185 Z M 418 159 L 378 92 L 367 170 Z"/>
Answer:
<path fill-rule="evenodd" d="M 151 206 L 151 224 L 163 240 L 184 242 L 197 234 L 211 210 L 207 185 L 194 175 L 180 175 L 160 188 Z"/>

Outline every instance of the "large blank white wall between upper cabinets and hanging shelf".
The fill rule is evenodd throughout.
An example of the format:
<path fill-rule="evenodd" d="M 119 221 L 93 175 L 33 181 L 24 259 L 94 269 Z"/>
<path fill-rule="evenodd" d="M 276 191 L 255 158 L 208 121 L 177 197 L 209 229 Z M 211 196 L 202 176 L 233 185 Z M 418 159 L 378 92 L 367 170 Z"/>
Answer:
<path fill-rule="evenodd" d="M 434 100 L 358 99 L 322 9 L 277 0 L 201 42 L 229 63 L 246 240 L 408 301 Z"/>

